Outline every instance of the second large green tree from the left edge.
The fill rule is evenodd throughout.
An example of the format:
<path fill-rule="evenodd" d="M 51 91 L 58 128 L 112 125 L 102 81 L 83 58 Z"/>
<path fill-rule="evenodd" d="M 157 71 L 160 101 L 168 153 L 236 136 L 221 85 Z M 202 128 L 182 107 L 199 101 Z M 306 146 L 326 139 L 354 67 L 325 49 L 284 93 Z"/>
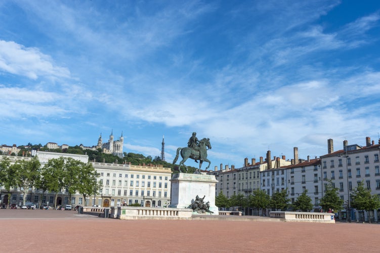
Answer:
<path fill-rule="evenodd" d="M 37 157 L 31 160 L 19 160 L 11 165 L 15 173 L 16 185 L 20 187 L 23 192 L 23 204 L 29 188 L 32 188 L 38 179 L 40 163 Z"/>

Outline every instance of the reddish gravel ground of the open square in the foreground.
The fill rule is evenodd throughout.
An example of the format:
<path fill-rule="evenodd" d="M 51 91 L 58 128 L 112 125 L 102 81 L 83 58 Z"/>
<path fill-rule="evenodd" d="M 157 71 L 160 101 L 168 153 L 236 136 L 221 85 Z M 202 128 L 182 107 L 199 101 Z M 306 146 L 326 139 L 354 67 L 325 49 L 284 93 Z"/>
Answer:
<path fill-rule="evenodd" d="M 380 225 L 115 220 L 0 210 L 1 252 L 380 252 Z"/>

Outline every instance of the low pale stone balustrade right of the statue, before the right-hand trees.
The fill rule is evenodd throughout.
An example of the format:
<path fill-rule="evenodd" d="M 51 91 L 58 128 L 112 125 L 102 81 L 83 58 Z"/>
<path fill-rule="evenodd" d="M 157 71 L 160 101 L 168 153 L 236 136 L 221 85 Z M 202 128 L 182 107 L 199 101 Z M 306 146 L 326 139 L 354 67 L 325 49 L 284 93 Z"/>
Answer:
<path fill-rule="evenodd" d="M 285 222 L 335 223 L 334 215 L 330 213 L 270 212 L 269 214 L 271 218 L 284 219 Z"/>

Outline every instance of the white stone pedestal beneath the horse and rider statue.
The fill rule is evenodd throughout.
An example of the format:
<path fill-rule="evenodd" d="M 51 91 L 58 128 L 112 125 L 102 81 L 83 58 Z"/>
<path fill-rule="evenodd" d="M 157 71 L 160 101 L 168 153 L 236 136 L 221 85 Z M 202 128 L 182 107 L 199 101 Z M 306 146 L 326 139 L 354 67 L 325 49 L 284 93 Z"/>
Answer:
<path fill-rule="evenodd" d="M 218 215 L 218 207 L 215 205 L 215 185 L 218 180 L 214 175 L 203 174 L 174 174 L 172 179 L 172 201 L 170 207 L 186 208 L 198 195 L 204 198 L 204 202 L 210 202 L 209 210 L 214 212 L 213 215 Z M 208 214 L 209 213 L 205 213 Z"/>

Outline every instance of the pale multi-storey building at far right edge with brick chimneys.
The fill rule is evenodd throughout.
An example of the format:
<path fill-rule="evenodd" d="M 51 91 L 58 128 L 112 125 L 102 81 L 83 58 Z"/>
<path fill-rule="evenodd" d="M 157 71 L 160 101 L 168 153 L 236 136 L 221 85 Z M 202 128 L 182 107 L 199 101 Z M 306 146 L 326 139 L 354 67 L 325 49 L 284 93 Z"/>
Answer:
<path fill-rule="evenodd" d="M 380 140 L 374 144 L 369 137 L 365 138 L 366 145 L 348 145 L 343 142 L 343 149 L 334 151 L 333 140 L 327 140 L 328 153 L 322 155 L 321 167 L 324 188 L 327 180 L 331 180 L 334 187 L 339 189 L 340 196 L 344 200 L 342 216 L 348 216 L 350 220 L 368 220 L 368 218 L 379 221 L 380 209 L 369 212 L 357 211 L 351 208 L 352 192 L 359 182 L 371 191 L 372 195 L 380 197 Z M 347 215 L 348 214 L 348 215 Z"/>

